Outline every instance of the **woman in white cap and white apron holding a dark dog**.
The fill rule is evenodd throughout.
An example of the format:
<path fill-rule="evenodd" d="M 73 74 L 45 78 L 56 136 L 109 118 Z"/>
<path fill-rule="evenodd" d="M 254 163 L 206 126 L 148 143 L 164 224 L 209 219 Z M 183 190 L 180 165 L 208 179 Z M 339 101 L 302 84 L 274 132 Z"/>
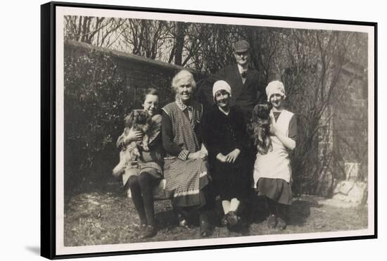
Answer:
<path fill-rule="evenodd" d="M 271 148 L 266 153 L 258 148 L 253 178 L 258 193 L 267 198 L 270 212 L 267 226 L 283 230 L 286 229 L 288 206 L 292 203 L 289 152 L 296 148 L 297 121 L 296 116 L 284 108 L 286 94 L 282 82 L 269 82 L 266 94 L 272 105 L 269 113 Z"/>

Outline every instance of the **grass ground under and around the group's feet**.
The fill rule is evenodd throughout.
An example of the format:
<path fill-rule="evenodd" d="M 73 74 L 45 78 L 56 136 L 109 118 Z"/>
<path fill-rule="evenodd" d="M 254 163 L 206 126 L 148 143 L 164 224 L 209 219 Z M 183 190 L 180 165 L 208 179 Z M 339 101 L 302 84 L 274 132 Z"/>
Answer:
<path fill-rule="evenodd" d="M 367 208 L 338 208 L 320 204 L 323 198 L 302 196 L 294 198 L 288 227 L 284 231 L 268 229 L 265 200 L 256 197 L 250 224 L 240 231 L 229 231 L 215 224 L 210 238 L 228 236 L 300 234 L 322 231 L 345 231 L 367 228 Z M 217 213 L 220 213 L 220 204 Z M 201 238 L 199 228 L 177 227 L 169 200 L 155 204 L 158 234 L 141 240 L 139 218 L 131 198 L 118 184 L 109 189 L 88 191 L 73 196 L 65 204 L 65 246 L 90 246 L 145 241 L 175 241 Z"/>

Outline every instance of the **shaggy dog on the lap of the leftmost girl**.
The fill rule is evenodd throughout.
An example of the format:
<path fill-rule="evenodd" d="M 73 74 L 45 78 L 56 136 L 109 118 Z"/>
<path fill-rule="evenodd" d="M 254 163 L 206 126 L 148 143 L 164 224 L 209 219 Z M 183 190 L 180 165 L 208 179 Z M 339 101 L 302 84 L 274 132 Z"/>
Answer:
<path fill-rule="evenodd" d="M 124 119 L 125 121 L 125 130 L 124 135 L 127 136 L 129 131 L 132 129 L 134 132 L 141 131 L 144 132 L 144 137 L 141 141 L 132 141 L 126 146 L 122 146 L 120 151 L 120 163 L 113 169 L 113 175 L 115 177 L 119 176 L 125 172 L 125 167 L 127 165 L 136 165 L 137 160 L 140 157 L 140 149 L 143 151 L 149 151 L 148 141 L 152 117 L 146 113 L 145 110 L 133 110 L 132 113 L 127 115 Z"/>

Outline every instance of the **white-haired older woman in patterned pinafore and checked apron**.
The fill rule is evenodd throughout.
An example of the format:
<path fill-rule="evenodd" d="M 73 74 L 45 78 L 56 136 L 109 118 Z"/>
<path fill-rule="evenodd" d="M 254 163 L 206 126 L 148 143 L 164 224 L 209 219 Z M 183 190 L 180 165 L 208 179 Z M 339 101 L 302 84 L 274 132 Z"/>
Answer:
<path fill-rule="evenodd" d="M 165 189 L 173 193 L 179 224 L 185 226 L 186 218 L 198 213 L 201 236 L 208 236 L 208 210 L 214 200 L 208 189 L 207 151 L 202 146 L 203 108 L 192 101 L 196 82 L 191 72 L 177 73 L 172 88 L 175 101 L 163 107 L 162 118 Z"/>

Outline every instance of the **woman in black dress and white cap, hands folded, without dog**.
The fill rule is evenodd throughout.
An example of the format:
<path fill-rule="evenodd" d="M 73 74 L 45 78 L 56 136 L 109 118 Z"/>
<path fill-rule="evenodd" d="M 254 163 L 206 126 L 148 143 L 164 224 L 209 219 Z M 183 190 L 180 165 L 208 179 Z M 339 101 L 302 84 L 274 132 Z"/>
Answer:
<path fill-rule="evenodd" d="M 229 105 L 231 87 L 227 82 L 215 82 L 212 96 L 215 104 L 205 113 L 203 123 L 205 144 L 215 191 L 222 200 L 221 223 L 231 229 L 239 222 L 239 205 L 250 182 L 246 172 L 246 123 L 242 111 Z"/>

